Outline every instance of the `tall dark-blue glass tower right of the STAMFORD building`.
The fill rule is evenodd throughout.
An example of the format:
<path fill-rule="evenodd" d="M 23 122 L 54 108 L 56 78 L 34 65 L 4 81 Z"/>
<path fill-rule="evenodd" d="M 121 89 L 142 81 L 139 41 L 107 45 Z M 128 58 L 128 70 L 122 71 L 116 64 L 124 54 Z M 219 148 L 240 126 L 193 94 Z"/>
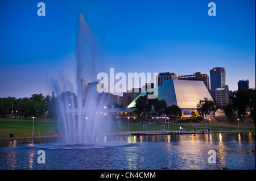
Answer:
<path fill-rule="evenodd" d="M 222 67 L 210 70 L 210 89 L 222 88 L 226 85 L 226 70 Z"/>

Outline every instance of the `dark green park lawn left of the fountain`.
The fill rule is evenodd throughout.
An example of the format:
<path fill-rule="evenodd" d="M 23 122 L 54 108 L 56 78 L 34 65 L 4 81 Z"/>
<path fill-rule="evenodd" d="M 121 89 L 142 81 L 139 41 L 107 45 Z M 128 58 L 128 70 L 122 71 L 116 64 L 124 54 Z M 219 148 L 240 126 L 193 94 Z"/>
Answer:
<path fill-rule="evenodd" d="M 0 119 L 0 137 L 30 137 L 32 136 L 33 121 L 27 119 Z M 34 136 L 50 136 L 56 134 L 56 121 L 34 120 Z"/>

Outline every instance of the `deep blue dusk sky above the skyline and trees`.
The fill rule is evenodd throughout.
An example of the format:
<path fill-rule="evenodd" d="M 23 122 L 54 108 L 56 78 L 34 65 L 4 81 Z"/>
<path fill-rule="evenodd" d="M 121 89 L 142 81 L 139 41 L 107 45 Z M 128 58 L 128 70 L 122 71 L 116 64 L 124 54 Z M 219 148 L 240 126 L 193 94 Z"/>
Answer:
<path fill-rule="evenodd" d="M 44 2 L 46 16 L 38 16 Z M 217 16 L 208 15 L 216 3 Z M 79 12 L 115 73 L 226 69 L 230 90 L 255 87 L 255 1 L 0 1 L 0 97 L 51 95 L 49 78 L 76 69 Z"/>

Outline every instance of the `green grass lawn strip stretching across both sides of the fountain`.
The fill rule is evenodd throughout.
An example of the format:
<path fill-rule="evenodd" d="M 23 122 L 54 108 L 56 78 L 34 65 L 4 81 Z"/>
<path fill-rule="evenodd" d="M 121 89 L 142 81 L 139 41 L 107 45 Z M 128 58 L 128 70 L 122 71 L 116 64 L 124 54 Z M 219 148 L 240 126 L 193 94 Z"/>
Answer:
<path fill-rule="evenodd" d="M 14 137 L 30 137 L 32 136 L 32 125 L 33 120 L 31 118 L 27 119 L 0 119 L 0 138 L 10 137 L 10 133 L 14 134 Z M 51 136 L 56 134 L 56 125 L 59 125 L 59 135 L 61 135 L 61 123 L 56 120 L 45 120 L 45 119 L 35 119 L 34 120 L 34 136 Z M 169 130 L 177 131 L 179 127 L 185 128 L 186 131 L 193 129 L 209 129 L 209 124 L 207 127 L 205 124 L 199 123 L 170 123 Z M 235 128 L 236 127 L 236 128 Z M 147 124 L 147 131 L 160 131 L 168 130 L 167 124 L 165 127 L 161 124 Z M 113 123 L 112 132 L 130 132 L 143 131 L 142 123 Z M 211 131 L 238 131 L 238 125 L 233 125 L 227 122 L 213 122 L 211 124 Z M 240 123 L 240 131 L 255 131 L 255 125 L 253 123 Z"/>

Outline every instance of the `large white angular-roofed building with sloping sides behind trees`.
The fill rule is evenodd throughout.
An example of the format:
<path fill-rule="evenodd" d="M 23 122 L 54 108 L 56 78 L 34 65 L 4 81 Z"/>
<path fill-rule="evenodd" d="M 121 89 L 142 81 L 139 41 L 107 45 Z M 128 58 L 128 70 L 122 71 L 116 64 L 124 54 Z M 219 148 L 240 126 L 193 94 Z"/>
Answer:
<path fill-rule="evenodd" d="M 183 112 L 183 115 L 190 115 L 192 111 L 197 113 L 197 103 L 200 99 L 208 98 L 213 100 L 212 96 L 205 87 L 203 81 L 187 81 L 187 80 L 168 80 L 164 81 L 160 87 L 154 87 L 153 89 L 147 90 L 148 92 L 154 92 L 159 100 L 166 100 L 167 106 L 175 104 L 179 106 Z M 142 92 L 127 106 L 127 108 L 135 108 L 135 100 L 139 96 L 144 96 L 147 91 Z"/>

